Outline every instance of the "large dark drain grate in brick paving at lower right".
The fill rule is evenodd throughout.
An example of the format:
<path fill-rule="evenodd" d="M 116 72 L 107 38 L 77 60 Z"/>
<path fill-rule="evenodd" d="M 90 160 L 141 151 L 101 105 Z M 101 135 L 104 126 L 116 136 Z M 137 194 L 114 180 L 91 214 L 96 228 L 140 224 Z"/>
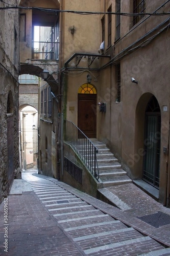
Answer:
<path fill-rule="evenodd" d="M 153 227 L 160 227 L 167 224 L 170 224 L 170 215 L 164 212 L 157 212 L 150 215 L 144 215 L 142 217 L 137 217 L 140 220 L 150 224 Z"/>

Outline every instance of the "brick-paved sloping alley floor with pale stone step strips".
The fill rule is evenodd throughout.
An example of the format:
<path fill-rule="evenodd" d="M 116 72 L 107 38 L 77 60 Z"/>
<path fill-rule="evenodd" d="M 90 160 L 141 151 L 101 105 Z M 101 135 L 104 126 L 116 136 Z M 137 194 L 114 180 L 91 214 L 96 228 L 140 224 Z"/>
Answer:
<path fill-rule="evenodd" d="M 138 218 L 158 211 L 170 215 L 170 209 L 135 185 L 108 188 L 130 207 L 122 211 L 53 178 L 32 174 L 22 177 L 33 191 L 8 196 L 8 225 L 5 204 L 0 205 L 0 255 L 170 256 L 164 247 L 170 246 L 170 224 L 156 228 Z"/>

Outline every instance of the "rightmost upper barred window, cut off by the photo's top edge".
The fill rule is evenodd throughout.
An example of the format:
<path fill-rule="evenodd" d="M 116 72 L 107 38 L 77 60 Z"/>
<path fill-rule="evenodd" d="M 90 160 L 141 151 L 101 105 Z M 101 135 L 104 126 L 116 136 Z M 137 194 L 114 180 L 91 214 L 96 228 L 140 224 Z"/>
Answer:
<path fill-rule="evenodd" d="M 133 13 L 144 13 L 145 10 L 145 0 L 133 0 Z M 139 22 L 144 15 L 135 15 L 133 17 L 133 25 Z"/>

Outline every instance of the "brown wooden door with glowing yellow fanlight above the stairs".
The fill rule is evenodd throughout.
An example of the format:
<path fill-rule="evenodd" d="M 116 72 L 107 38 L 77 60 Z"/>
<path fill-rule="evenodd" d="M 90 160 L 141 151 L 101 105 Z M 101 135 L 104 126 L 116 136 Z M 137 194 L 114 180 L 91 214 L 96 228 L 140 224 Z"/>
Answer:
<path fill-rule="evenodd" d="M 88 138 L 96 138 L 96 88 L 82 84 L 78 90 L 78 127 Z"/>

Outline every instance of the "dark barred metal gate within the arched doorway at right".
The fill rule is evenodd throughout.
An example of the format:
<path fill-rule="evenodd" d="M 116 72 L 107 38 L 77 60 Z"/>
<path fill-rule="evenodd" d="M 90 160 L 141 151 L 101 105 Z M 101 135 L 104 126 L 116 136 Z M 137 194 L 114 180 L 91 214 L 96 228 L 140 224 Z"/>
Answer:
<path fill-rule="evenodd" d="M 161 112 L 152 96 L 145 110 L 143 179 L 159 187 Z"/>

